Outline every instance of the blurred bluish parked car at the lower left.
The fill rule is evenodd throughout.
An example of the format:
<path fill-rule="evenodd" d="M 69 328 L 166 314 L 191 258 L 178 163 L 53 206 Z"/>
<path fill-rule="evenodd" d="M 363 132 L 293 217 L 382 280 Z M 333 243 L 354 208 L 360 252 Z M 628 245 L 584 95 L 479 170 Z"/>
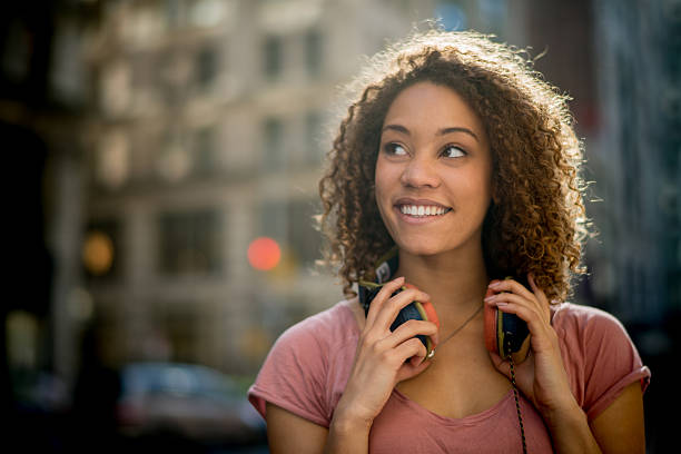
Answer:
<path fill-rule="evenodd" d="M 132 444 L 178 447 L 181 442 L 215 447 L 266 443 L 263 418 L 235 381 L 216 369 L 142 362 L 124 366 L 120 378 L 118 427 Z"/>

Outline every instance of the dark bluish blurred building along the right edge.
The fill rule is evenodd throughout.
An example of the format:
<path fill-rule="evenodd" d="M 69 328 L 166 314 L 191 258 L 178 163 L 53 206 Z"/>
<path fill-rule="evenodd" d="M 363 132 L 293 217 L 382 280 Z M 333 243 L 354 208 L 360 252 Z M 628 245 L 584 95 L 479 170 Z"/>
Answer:
<path fill-rule="evenodd" d="M 591 168 L 604 201 L 593 288 L 624 323 L 651 328 L 681 309 L 681 1 L 593 3 L 602 111 Z"/>

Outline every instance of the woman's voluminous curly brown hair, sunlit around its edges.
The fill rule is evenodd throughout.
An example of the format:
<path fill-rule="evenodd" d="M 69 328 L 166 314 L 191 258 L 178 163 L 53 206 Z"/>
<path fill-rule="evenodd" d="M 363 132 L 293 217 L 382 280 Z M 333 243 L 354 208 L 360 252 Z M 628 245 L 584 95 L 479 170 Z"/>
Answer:
<path fill-rule="evenodd" d="M 420 81 L 456 91 L 485 126 L 494 176 L 482 237 L 487 274 L 530 272 L 550 300 L 571 295 L 573 274 L 585 273 L 580 259 L 589 235 L 582 147 L 569 98 L 523 55 L 475 32 L 415 32 L 373 57 L 348 86 L 358 96 L 319 181 L 326 264 L 339 267 L 346 296 L 358 279 L 373 278 L 376 260 L 394 246 L 376 206 L 374 171 L 391 103 Z"/>

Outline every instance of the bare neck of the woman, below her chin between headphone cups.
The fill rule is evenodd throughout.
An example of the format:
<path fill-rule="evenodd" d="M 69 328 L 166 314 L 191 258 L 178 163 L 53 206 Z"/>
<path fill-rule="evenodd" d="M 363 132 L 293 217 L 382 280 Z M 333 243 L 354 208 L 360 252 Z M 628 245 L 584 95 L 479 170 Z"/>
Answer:
<path fill-rule="evenodd" d="M 394 276 L 404 276 L 407 283 L 427 293 L 445 326 L 480 307 L 490 283 L 482 248 L 468 254 L 450 251 L 434 256 L 401 249 L 399 268 Z"/>

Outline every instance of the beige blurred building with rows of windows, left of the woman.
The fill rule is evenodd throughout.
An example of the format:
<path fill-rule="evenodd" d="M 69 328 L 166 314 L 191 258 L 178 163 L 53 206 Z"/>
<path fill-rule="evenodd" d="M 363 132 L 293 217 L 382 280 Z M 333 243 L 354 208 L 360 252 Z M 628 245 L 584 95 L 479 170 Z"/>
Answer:
<path fill-rule="evenodd" d="M 285 327 L 342 298 L 314 270 L 329 107 L 427 3 L 101 2 L 83 49 L 82 250 L 107 362 L 251 373 Z M 258 237 L 280 248 L 260 253 L 270 270 L 248 261 Z"/>

